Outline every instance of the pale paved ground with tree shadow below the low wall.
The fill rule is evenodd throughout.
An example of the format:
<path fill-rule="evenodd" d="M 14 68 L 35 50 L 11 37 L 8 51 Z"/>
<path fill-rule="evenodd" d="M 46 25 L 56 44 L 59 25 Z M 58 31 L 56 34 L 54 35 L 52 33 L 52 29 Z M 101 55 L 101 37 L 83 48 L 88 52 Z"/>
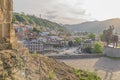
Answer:
<path fill-rule="evenodd" d="M 68 59 L 61 60 L 66 64 L 92 72 L 96 72 L 102 80 L 120 80 L 120 60 L 112 60 L 108 58 L 94 59 Z"/>

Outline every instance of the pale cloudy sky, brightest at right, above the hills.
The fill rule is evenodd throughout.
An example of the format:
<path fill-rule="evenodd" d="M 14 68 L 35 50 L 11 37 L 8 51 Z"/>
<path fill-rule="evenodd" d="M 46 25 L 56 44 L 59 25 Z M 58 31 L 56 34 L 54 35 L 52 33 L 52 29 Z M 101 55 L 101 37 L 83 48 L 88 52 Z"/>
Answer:
<path fill-rule="evenodd" d="M 14 0 L 14 11 L 63 24 L 120 17 L 120 0 Z"/>

